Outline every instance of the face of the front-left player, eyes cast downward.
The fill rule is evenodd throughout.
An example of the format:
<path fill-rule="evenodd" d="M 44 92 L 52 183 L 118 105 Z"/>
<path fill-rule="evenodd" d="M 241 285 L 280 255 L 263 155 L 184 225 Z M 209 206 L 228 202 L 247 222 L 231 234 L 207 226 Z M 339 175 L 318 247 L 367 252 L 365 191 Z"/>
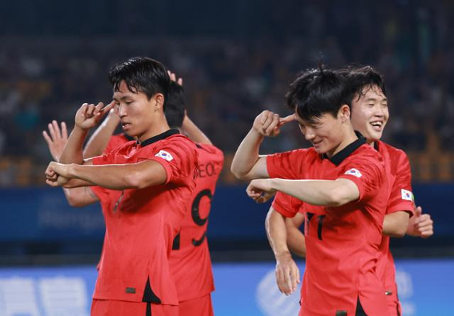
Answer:
<path fill-rule="evenodd" d="M 131 137 L 139 141 L 153 137 L 154 127 L 160 127 L 162 120 L 162 94 L 155 94 L 150 99 L 143 92 L 128 90 L 125 81 L 121 81 L 114 93 L 116 113 L 120 117 L 121 127 Z M 167 127 L 168 128 L 168 127 Z"/>

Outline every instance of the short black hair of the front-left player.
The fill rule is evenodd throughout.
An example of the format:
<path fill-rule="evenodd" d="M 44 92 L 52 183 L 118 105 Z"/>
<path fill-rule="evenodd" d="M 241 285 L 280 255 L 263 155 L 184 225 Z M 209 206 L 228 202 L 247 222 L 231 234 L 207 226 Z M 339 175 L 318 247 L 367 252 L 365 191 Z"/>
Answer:
<path fill-rule="evenodd" d="M 109 81 L 114 91 L 119 91 L 121 81 L 129 91 L 143 92 L 148 100 L 157 93 L 167 98 L 170 77 L 160 62 L 149 57 L 133 57 L 126 62 L 115 64 L 109 71 Z"/>

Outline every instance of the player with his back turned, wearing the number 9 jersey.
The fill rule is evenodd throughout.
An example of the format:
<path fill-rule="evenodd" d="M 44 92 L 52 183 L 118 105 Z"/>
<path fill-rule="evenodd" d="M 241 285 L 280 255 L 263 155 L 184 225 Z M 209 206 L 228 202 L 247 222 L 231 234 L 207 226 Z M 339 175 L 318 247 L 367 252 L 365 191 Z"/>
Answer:
<path fill-rule="evenodd" d="M 184 110 L 184 94 L 175 74 L 165 115 L 170 126 L 181 128 L 196 142 L 199 164 L 196 188 L 187 205 L 182 228 L 175 237 L 170 254 L 170 269 L 175 279 L 179 300 L 179 316 L 212 316 L 211 292 L 214 290 L 213 272 L 206 228 L 214 196 L 216 181 L 223 167 L 223 152 L 189 119 Z M 175 83 L 178 82 L 179 84 Z"/>

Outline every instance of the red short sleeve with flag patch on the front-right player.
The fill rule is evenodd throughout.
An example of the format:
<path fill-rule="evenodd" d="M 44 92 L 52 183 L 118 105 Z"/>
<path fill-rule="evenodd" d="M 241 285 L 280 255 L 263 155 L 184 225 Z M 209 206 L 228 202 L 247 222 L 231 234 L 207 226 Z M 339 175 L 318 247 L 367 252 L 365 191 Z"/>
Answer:
<path fill-rule="evenodd" d="M 343 167 L 343 174 L 338 179 L 353 181 L 360 191 L 358 201 L 369 200 L 380 191 L 384 182 L 384 165 L 379 157 L 365 154 L 364 157 L 356 156 Z"/>

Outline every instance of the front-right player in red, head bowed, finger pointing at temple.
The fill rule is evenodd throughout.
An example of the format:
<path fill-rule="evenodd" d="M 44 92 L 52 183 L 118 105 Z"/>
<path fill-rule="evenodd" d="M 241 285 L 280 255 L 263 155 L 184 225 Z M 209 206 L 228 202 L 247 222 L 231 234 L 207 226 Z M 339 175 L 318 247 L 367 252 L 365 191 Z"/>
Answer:
<path fill-rule="evenodd" d="M 291 85 L 287 104 L 314 147 L 259 156 L 264 137 L 277 135 L 288 121 L 264 111 L 232 162 L 236 176 L 255 179 L 247 188 L 251 198 L 276 191 L 292 196 L 276 198 L 267 216 L 269 229 L 278 232 L 272 242 L 278 264 L 281 256 L 291 258 L 283 250 L 284 218 L 298 213 L 304 201 L 307 256 L 299 315 L 388 314 L 375 271 L 387 195 L 384 165 L 380 154 L 355 135 L 347 98 L 341 75 L 304 72 Z M 297 271 L 287 280 L 290 290 L 299 281 Z"/>

